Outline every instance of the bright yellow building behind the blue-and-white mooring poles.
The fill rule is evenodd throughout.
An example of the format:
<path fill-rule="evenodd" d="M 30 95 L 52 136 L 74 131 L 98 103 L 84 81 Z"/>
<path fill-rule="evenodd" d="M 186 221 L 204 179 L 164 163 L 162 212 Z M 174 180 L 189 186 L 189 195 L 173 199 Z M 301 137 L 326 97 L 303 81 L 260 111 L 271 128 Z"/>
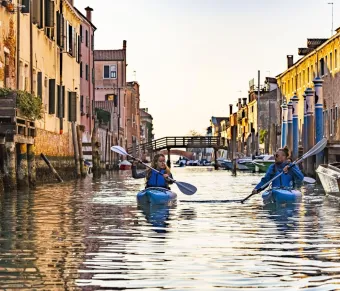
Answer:
<path fill-rule="evenodd" d="M 304 55 L 296 63 L 288 56 L 288 68 L 277 76 L 281 101 L 287 102 L 297 95 L 299 98 L 299 131 L 302 133 L 304 118 L 304 92 L 314 89 L 315 77 L 323 79 L 324 96 L 324 134 L 330 140 L 340 138 L 339 127 L 336 126 L 338 107 L 340 105 L 339 51 L 340 29 L 329 39 L 308 39 L 307 48 L 299 49 Z"/>

